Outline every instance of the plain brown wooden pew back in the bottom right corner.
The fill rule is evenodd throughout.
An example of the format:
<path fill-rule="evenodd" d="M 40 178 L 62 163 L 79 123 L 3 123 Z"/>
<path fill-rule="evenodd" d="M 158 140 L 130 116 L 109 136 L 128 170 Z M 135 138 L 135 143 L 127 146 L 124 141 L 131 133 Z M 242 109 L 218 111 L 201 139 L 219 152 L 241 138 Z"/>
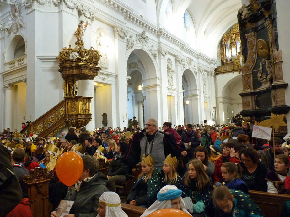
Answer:
<path fill-rule="evenodd" d="M 249 190 L 252 200 L 262 209 L 266 217 L 280 216 L 282 206 L 286 200 L 290 200 L 290 195 L 273 194 L 263 191 Z"/>

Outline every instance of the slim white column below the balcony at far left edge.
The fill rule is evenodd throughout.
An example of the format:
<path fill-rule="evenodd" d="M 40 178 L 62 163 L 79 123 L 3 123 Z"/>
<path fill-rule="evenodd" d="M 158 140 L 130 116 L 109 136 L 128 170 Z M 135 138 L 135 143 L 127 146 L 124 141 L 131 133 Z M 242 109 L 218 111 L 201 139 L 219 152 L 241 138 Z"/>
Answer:
<path fill-rule="evenodd" d="M 4 98 L 4 128 L 10 128 L 10 131 L 13 131 L 12 128 L 12 89 L 14 85 L 6 84 L 3 85 L 5 89 L 5 98 Z"/>

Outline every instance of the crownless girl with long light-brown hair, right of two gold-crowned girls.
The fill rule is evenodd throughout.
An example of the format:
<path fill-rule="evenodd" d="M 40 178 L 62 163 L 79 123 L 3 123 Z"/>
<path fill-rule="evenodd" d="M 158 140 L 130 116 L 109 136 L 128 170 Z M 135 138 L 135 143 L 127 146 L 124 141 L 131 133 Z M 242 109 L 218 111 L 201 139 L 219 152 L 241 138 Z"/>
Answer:
<path fill-rule="evenodd" d="M 201 160 L 195 159 L 189 162 L 184 184 L 188 187 L 187 194 L 193 202 L 193 213 L 203 213 L 211 216 L 213 213 L 211 199 L 213 186 Z"/>

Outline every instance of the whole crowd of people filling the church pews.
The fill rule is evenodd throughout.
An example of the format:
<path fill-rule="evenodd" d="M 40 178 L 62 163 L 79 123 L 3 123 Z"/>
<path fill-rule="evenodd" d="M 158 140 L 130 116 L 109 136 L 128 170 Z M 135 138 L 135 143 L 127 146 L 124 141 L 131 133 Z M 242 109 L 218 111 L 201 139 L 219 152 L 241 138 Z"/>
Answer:
<path fill-rule="evenodd" d="M 159 127 L 149 118 L 144 129 L 70 128 L 60 137 L 46 138 L 7 128 L 0 138 L 0 174 L 6 177 L 0 180 L 0 202 L 10 203 L 4 216 L 24 216 L 24 210 L 31 216 L 23 176 L 35 167 L 55 172 L 57 159 L 73 151 L 83 159 L 83 174 L 73 186 L 54 176 L 49 184 L 51 216 L 59 216 L 61 200 L 74 201 L 65 217 L 127 216 L 114 191 L 132 178 L 139 162 L 142 171 L 126 203 L 147 208 L 142 216 L 163 208 L 192 216 L 264 216 L 248 193 L 290 194 L 290 138 L 283 139 L 254 138 L 250 124 L 240 121 L 231 126 L 165 122 Z M 110 162 L 107 176 L 99 171 L 98 158 Z"/>

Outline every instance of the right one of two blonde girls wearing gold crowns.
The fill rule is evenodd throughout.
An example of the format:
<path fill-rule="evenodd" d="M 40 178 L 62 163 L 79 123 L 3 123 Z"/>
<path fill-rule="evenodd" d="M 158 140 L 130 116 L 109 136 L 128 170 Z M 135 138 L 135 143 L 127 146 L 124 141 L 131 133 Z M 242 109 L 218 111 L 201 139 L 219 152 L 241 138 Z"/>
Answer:
<path fill-rule="evenodd" d="M 176 172 L 178 161 L 176 157 L 171 158 L 171 154 L 167 155 L 163 163 L 163 181 L 161 188 L 165 185 L 175 185 L 178 189 L 182 190 L 182 196 L 185 196 L 187 187 L 185 187 L 182 178 Z"/>

